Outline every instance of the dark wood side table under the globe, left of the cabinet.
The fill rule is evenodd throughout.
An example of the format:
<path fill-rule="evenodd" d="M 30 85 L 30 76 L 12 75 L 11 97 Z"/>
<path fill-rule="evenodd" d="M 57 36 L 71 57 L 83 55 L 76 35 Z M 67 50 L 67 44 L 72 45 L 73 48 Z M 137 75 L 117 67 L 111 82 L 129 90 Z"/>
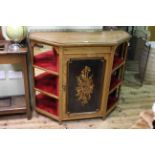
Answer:
<path fill-rule="evenodd" d="M 5 50 L 0 51 L 0 64 L 21 64 L 22 65 L 22 72 L 23 72 L 24 86 L 25 86 L 25 95 L 24 95 L 25 100 L 19 100 L 19 101 L 23 101 L 26 104 L 24 106 L 20 106 L 20 104 L 18 104 L 18 105 L 8 106 L 6 108 L 0 107 L 0 115 L 26 113 L 27 118 L 28 119 L 31 118 L 27 54 L 28 54 L 28 51 L 26 49 L 21 49 L 21 52 L 17 52 L 17 53 L 10 53 Z"/>

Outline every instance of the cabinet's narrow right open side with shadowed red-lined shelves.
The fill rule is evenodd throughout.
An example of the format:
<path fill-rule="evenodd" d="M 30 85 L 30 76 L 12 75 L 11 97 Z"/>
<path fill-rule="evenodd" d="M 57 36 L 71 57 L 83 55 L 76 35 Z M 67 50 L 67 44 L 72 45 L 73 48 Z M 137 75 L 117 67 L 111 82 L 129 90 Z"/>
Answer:
<path fill-rule="evenodd" d="M 119 100 L 120 87 L 123 83 L 123 69 L 126 58 L 125 46 L 127 46 L 127 44 L 123 43 L 119 45 L 115 51 L 106 114 L 110 113 L 116 107 Z"/>

